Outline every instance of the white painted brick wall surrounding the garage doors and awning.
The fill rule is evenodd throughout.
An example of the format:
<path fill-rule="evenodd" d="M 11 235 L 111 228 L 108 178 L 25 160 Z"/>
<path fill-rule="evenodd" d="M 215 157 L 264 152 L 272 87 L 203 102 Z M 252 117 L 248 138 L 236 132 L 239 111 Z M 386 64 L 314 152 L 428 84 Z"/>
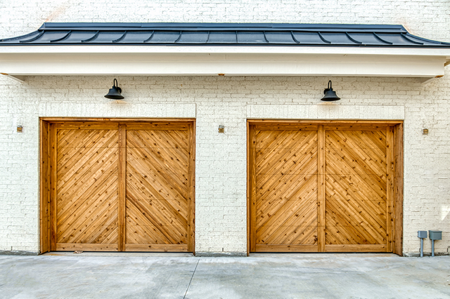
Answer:
<path fill-rule="evenodd" d="M 46 21 L 324 22 L 401 24 L 413 34 L 450 41 L 447 0 L 4 0 L 0 14 L 1 38 L 27 34 Z M 450 246 L 449 67 L 445 77 L 426 86 L 414 78 L 389 77 L 117 77 L 126 105 L 103 98 L 112 79 L 27 77 L 20 84 L 0 78 L 0 251 L 39 250 L 38 119 L 70 115 L 194 115 L 196 251 L 246 251 L 245 120 L 271 109 L 282 118 L 306 111 L 311 118 L 403 115 L 404 251 L 418 251 L 417 230 L 443 230 L 436 251 Z M 328 79 L 342 98 L 338 103 L 319 101 Z M 24 133 L 15 133 L 18 124 Z M 217 133 L 219 125 L 225 134 Z M 422 128 L 430 134 L 422 135 Z"/>

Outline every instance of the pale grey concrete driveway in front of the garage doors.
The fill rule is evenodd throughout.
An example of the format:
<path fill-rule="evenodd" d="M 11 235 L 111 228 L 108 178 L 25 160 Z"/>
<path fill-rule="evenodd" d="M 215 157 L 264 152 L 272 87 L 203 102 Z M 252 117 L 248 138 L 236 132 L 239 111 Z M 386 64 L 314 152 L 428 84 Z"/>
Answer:
<path fill-rule="evenodd" d="M 0 298 L 450 298 L 450 257 L 0 256 Z"/>

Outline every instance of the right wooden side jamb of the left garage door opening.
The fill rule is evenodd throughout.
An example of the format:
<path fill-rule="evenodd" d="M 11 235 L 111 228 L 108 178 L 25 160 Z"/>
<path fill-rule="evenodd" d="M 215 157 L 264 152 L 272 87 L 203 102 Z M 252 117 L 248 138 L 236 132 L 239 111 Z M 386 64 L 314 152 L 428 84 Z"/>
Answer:
<path fill-rule="evenodd" d="M 188 128 L 188 251 L 195 254 L 195 121 Z"/>

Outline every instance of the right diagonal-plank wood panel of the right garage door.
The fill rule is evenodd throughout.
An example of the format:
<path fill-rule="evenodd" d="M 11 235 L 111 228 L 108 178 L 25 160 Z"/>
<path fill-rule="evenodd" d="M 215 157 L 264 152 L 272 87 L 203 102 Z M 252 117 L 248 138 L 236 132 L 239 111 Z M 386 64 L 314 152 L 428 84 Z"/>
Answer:
<path fill-rule="evenodd" d="M 326 131 L 329 251 L 334 245 L 380 245 L 368 248 L 386 251 L 386 154 L 386 131 Z"/>

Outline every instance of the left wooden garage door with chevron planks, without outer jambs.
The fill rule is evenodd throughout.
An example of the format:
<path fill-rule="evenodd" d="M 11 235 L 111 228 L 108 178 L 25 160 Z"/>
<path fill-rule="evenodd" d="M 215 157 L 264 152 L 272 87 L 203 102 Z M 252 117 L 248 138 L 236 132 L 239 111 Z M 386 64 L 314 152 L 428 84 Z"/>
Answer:
<path fill-rule="evenodd" d="M 48 127 L 49 250 L 193 251 L 192 122 Z"/>

